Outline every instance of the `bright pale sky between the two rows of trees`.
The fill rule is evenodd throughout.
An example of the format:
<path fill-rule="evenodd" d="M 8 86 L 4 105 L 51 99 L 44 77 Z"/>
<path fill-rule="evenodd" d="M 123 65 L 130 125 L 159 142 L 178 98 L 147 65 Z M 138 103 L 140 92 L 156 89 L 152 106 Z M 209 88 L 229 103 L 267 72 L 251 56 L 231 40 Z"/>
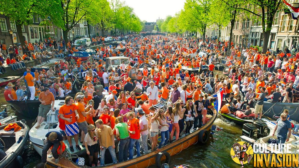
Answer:
<path fill-rule="evenodd" d="M 123 0 L 134 9 L 141 21 L 156 22 L 167 15 L 174 16 L 184 7 L 185 0 Z"/>

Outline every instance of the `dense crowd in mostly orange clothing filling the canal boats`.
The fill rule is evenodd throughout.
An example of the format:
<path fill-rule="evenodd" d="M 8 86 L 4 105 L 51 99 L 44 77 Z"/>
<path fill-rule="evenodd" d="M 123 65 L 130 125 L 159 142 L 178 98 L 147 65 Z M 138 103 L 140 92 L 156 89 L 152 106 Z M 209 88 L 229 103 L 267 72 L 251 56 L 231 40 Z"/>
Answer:
<path fill-rule="evenodd" d="M 40 107 L 38 123 L 44 120 L 47 110 L 53 108 L 51 103 L 55 98 L 65 97 L 65 105 L 59 111 L 61 131 L 49 133 L 48 142 L 58 144 L 67 139 L 71 144 L 71 136 L 74 136 L 76 148 L 81 150 L 78 142 L 81 133 L 90 166 L 97 162 L 99 151 L 100 164 L 104 165 L 106 149 L 113 163 L 126 161 L 133 158 L 134 147 L 140 156 L 149 152 L 148 142 L 153 151 L 205 125 L 210 106 L 208 94 L 223 90 L 230 110 L 240 110 L 246 115 L 255 113 L 255 119 L 261 118 L 264 101 L 298 102 L 299 53 L 295 54 L 295 49 L 277 49 L 276 52 L 268 49 L 263 53 L 257 47 L 233 43 L 231 46 L 228 51 L 228 42 L 217 38 L 203 41 L 175 35 L 132 34 L 118 48 L 112 45 L 97 48 L 96 54 L 86 62 L 61 61 L 47 72 L 33 73 L 27 68 L 20 78 L 25 78 L 27 90 L 18 84 L 17 87 L 9 85 L 4 97 L 8 102 L 23 100 L 26 95 L 33 100 L 38 91 L 43 91 L 39 93 L 44 106 Z M 118 56 L 119 48 L 126 49 L 123 55 L 129 57 L 130 62 L 123 61 L 116 68 L 107 69 L 102 61 Z M 200 51 L 205 54 L 199 55 Z M 94 57 L 103 60 L 97 61 Z M 151 59 L 156 64 L 148 69 Z M 227 76 L 214 73 L 214 63 L 221 61 L 230 67 Z M 130 63 L 136 68 L 135 79 L 129 76 L 132 74 Z M 189 72 L 184 67 L 198 71 Z M 73 98 L 67 95 L 73 85 L 74 70 L 85 82 L 81 92 Z M 24 98 L 17 94 L 16 99 L 12 90 L 21 90 Z M 105 91 L 108 95 L 103 98 Z M 47 95 L 51 98 L 45 98 Z M 245 97 L 244 102 L 241 97 Z M 169 106 L 166 110 L 157 109 L 158 102 L 169 102 Z M 115 138 L 119 139 L 118 146 L 115 146 Z M 44 148 L 43 162 L 50 144 Z M 118 147 L 118 158 L 115 147 Z M 74 151 L 73 146 L 70 149 Z M 57 151 L 52 149 L 52 153 L 58 162 Z"/>

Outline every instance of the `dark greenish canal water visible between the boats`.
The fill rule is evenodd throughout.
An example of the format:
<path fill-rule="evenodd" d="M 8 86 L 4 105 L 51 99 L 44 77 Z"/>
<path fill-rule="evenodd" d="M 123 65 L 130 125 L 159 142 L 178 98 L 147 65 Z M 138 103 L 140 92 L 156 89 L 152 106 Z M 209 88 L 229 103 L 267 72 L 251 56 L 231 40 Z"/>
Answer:
<path fill-rule="evenodd" d="M 220 71 L 218 72 L 220 74 Z M 0 94 L 3 95 L 4 87 L 0 88 Z M 28 126 L 31 128 L 31 124 L 35 121 L 34 119 L 28 119 L 23 117 L 14 110 L 9 103 L 4 99 L 4 96 L 0 96 L 0 111 L 7 108 L 9 115 L 17 115 L 18 120 L 25 119 Z M 37 113 L 37 112 L 36 112 Z M 222 129 L 215 129 L 222 128 Z M 230 150 L 233 143 L 240 141 L 242 135 L 242 126 L 231 123 L 218 116 L 214 122 L 214 131 L 211 132 L 208 143 L 206 144 L 195 144 L 187 149 L 183 150 L 178 155 L 171 157 L 170 167 L 176 167 L 178 165 L 189 165 L 194 168 L 238 168 L 239 164 L 236 164 L 230 156 Z M 28 140 L 24 150 L 23 160 L 26 168 L 34 168 L 36 164 L 41 162 L 41 157 L 34 150 L 30 141 Z M 253 161 L 251 161 L 253 163 Z M 252 165 L 244 165 L 244 167 L 252 167 Z M 155 165 L 150 168 L 156 168 Z"/>

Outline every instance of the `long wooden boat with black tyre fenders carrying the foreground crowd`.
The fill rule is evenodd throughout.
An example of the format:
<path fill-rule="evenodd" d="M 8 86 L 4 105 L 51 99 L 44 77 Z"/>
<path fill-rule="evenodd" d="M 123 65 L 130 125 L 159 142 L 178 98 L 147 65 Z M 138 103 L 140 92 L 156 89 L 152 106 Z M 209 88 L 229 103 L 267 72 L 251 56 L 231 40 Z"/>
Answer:
<path fill-rule="evenodd" d="M 168 143 L 166 146 L 160 148 L 159 150 L 155 150 L 152 152 L 149 152 L 148 154 L 141 155 L 139 157 L 133 157 L 133 159 L 128 161 L 119 162 L 117 164 L 106 164 L 105 168 L 112 168 L 112 167 L 118 167 L 118 168 L 145 168 L 149 167 L 150 165 L 156 164 L 156 166 L 159 168 L 161 167 L 161 161 L 166 159 L 167 163 L 170 163 L 171 156 L 179 154 L 182 150 L 188 148 L 189 146 L 196 144 L 196 143 L 206 143 L 207 138 L 210 134 L 209 130 L 211 129 L 214 121 L 217 117 L 217 112 L 214 107 L 209 109 L 212 111 L 212 118 L 206 123 L 204 126 L 199 128 L 198 130 L 192 132 L 191 134 L 187 136 L 182 136 L 181 139 L 177 141 L 173 141 L 172 143 Z M 58 127 L 58 126 L 57 126 Z M 30 137 L 31 138 L 31 137 Z M 67 140 L 66 140 L 67 141 Z M 67 143 L 64 141 L 65 143 Z M 67 146 L 67 145 L 66 145 Z M 67 147 L 68 148 L 68 147 Z M 86 149 L 83 148 L 81 151 L 83 151 L 84 155 L 86 155 Z M 75 149 L 76 152 L 76 149 Z M 51 154 L 51 151 L 48 151 L 48 155 Z M 165 157 L 166 156 L 166 157 Z M 82 155 L 79 157 L 82 157 Z M 75 161 L 77 158 L 74 158 L 72 161 L 68 161 L 65 158 L 60 159 L 60 161 L 55 164 L 54 158 L 48 158 L 47 157 L 47 164 L 50 168 L 57 168 L 58 166 L 62 166 L 63 168 L 75 168 L 79 167 Z M 88 167 L 88 166 L 84 166 Z"/>

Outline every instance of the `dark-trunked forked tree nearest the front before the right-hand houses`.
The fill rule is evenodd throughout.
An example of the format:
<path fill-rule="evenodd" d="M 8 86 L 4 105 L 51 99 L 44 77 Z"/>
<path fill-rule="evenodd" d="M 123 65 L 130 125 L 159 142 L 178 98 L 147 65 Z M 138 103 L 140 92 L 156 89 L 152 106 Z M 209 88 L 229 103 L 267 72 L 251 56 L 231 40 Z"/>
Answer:
<path fill-rule="evenodd" d="M 248 5 L 236 7 L 236 9 L 249 12 L 261 19 L 264 40 L 262 52 L 264 53 L 267 52 L 274 15 L 277 9 L 282 6 L 281 2 L 281 0 L 246 0 L 245 3 Z"/>

